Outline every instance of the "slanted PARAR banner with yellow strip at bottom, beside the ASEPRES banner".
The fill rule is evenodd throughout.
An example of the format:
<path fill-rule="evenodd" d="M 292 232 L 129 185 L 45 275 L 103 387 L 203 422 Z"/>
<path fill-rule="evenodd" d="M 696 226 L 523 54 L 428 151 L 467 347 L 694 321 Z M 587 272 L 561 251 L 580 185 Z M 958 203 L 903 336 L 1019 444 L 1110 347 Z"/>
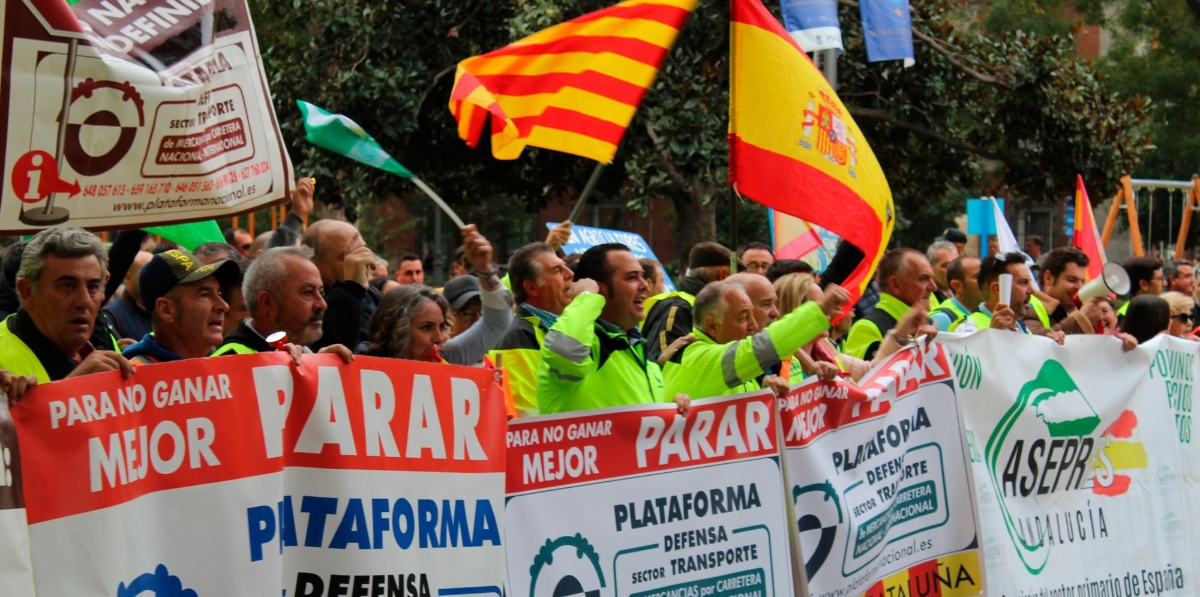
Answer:
<path fill-rule="evenodd" d="M 940 344 L 857 385 L 811 378 L 780 400 L 788 498 L 814 597 L 984 592 L 953 369 Z"/>

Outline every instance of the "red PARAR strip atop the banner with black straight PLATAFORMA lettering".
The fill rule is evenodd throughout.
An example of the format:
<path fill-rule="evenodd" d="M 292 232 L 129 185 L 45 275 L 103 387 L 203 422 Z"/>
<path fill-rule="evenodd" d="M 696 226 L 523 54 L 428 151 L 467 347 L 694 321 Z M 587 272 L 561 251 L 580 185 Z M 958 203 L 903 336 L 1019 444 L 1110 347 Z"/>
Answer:
<path fill-rule="evenodd" d="M 774 394 L 618 406 L 509 423 L 508 493 L 779 454 Z"/>

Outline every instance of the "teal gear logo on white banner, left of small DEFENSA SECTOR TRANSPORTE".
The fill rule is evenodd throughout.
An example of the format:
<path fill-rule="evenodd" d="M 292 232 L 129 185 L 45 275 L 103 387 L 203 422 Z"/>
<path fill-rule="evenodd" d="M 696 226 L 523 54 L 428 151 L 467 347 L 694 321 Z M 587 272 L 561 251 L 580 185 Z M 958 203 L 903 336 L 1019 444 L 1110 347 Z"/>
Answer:
<path fill-rule="evenodd" d="M 546 539 L 529 577 L 529 597 L 600 597 L 605 587 L 600 555 L 580 533 Z"/>

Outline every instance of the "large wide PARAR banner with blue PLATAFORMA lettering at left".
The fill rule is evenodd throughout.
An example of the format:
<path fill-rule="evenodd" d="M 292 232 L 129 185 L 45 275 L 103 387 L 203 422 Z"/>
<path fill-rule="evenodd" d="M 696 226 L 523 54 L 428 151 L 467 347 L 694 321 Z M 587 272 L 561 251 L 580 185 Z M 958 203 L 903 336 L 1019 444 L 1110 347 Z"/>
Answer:
<path fill-rule="evenodd" d="M 232 356 L 40 386 L 13 414 L 40 597 L 500 595 L 493 373 Z"/>

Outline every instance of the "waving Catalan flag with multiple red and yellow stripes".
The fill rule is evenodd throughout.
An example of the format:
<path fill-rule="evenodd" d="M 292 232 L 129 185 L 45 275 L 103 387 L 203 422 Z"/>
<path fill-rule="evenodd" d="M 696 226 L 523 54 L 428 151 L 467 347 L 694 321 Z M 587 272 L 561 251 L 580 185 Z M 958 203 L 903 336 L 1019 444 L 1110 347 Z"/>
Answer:
<path fill-rule="evenodd" d="M 474 147 L 492 117 L 492 155 L 527 145 L 612 162 L 646 89 L 696 0 L 626 0 L 458 62 L 450 111 Z"/>

